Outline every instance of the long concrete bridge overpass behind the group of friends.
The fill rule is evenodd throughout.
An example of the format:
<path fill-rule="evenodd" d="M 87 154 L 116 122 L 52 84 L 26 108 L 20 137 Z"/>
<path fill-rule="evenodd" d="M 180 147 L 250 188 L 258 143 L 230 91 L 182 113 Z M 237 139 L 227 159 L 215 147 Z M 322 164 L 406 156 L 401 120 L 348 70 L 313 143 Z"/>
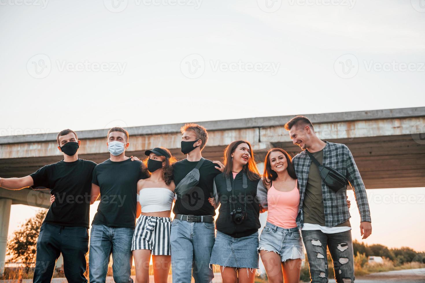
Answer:
<path fill-rule="evenodd" d="M 281 147 L 297 154 L 283 125 L 294 115 L 196 122 L 205 126 L 209 139 L 203 156 L 221 160 L 233 140 L 248 140 L 262 170 L 268 149 Z M 365 186 L 373 188 L 422 187 L 425 179 L 425 107 L 306 115 L 322 140 L 344 143 L 351 150 Z M 126 128 L 130 134 L 127 156 L 144 157 L 146 149 L 163 146 L 178 159 L 183 123 Z M 64 128 L 67 126 L 64 125 Z M 100 163 L 109 158 L 108 129 L 77 132 L 79 158 Z M 45 164 L 62 159 L 57 133 L 0 137 L 0 177 L 23 177 Z M 0 188 L 0 261 L 6 251 L 10 205 L 49 206 L 45 191 L 8 191 Z M 3 261 L 4 262 L 4 261 Z"/>

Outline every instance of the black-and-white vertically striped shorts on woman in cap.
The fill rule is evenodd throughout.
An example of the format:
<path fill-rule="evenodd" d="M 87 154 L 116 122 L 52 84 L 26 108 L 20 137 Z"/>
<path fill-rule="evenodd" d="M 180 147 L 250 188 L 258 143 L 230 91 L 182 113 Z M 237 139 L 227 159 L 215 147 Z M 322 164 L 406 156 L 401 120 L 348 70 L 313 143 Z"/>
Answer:
<path fill-rule="evenodd" d="M 150 249 L 152 255 L 171 255 L 170 217 L 141 215 L 134 229 L 131 250 Z"/>

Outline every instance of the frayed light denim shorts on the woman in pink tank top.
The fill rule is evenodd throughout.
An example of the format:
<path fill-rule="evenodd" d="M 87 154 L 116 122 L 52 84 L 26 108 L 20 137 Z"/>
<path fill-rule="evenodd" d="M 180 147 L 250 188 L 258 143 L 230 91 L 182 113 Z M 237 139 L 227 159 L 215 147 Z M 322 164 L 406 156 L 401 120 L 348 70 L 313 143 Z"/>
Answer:
<path fill-rule="evenodd" d="M 303 242 L 297 227 L 285 229 L 266 222 L 258 243 L 258 252 L 261 250 L 279 254 L 282 262 L 304 258 Z"/>

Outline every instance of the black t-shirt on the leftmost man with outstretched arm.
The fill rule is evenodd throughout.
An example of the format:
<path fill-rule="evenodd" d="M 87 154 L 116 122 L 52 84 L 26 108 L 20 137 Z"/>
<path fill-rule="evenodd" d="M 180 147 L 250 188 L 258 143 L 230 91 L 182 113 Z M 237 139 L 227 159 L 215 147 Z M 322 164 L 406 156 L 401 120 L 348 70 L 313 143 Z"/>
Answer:
<path fill-rule="evenodd" d="M 89 227 L 91 176 L 95 166 L 90 160 L 61 160 L 30 175 L 34 189 L 48 188 L 55 196 L 43 223 Z"/>

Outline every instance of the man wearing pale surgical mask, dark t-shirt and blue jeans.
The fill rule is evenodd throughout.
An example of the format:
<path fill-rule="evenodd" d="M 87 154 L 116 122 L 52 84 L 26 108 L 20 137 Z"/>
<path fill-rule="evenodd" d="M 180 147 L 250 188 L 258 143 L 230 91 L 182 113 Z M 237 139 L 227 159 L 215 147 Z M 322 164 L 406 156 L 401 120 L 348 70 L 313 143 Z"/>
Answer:
<path fill-rule="evenodd" d="M 114 127 L 108 131 L 111 157 L 96 165 L 93 171 L 91 203 L 100 194 L 90 234 L 90 282 L 105 282 L 109 258 L 115 282 L 133 282 L 130 278 L 131 240 L 136 223 L 137 181 L 148 176 L 142 162 L 125 156 L 128 132 Z"/>

